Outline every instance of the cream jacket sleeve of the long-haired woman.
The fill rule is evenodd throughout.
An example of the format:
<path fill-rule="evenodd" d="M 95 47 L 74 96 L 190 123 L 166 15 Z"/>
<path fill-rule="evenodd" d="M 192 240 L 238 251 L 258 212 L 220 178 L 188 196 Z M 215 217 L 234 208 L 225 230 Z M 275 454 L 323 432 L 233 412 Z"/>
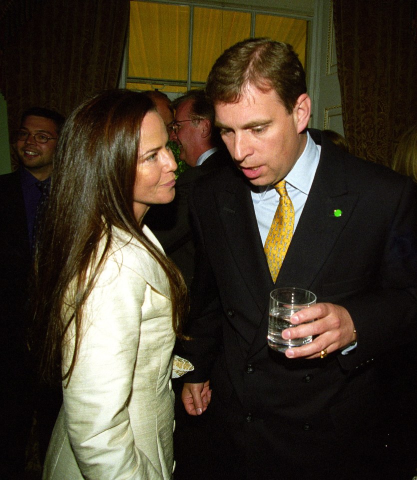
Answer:
<path fill-rule="evenodd" d="M 84 305 L 85 328 L 63 404 L 70 443 L 88 479 L 161 479 L 135 445 L 127 409 L 148 287 L 108 259 Z M 72 350 L 70 339 L 64 367 Z"/>

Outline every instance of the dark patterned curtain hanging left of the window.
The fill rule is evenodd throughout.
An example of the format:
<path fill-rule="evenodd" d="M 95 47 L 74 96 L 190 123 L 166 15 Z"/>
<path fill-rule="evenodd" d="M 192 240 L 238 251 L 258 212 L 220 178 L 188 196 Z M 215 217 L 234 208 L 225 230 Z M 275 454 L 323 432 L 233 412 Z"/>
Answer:
<path fill-rule="evenodd" d="M 1 0 L 9 131 L 25 108 L 68 115 L 88 95 L 117 87 L 128 21 L 129 0 Z"/>

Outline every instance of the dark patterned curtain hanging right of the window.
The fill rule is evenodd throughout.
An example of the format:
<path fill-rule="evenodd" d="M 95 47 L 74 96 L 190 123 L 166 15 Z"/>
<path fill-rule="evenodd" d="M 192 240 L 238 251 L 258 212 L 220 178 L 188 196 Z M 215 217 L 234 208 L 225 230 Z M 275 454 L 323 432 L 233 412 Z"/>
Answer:
<path fill-rule="evenodd" d="M 391 165 L 417 123 L 416 0 L 333 0 L 343 125 L 352 151 Z"/>

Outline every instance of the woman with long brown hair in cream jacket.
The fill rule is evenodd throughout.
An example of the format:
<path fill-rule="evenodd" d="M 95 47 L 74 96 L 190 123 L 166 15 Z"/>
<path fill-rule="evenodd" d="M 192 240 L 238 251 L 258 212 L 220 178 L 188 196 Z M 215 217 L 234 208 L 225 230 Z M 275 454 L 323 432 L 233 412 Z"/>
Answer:
<path fill-rule="evenodd" d="M 141 223 L 174 198 L 152 100 L 107 90 L 65 122 L 35 255 L 42 375 L 63 384 L 44 479 L 169 479 L 172 349 L 186 287 Z"/>

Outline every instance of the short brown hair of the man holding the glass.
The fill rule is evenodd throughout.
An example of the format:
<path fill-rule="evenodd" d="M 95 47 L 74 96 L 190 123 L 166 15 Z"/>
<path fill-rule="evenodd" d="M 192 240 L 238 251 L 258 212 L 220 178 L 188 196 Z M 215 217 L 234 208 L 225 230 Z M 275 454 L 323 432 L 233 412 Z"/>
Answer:
<path fill-rule="evenodd" d="M 231 103 L 239 101 L 249 85 L 262 91 L 273 88 L 289 113 L 307 92 L 304 68 L 293 47 L 270 38 L 249 38 L 225 50 L 209 73 L 206 94 L 213 103 Z"/>

